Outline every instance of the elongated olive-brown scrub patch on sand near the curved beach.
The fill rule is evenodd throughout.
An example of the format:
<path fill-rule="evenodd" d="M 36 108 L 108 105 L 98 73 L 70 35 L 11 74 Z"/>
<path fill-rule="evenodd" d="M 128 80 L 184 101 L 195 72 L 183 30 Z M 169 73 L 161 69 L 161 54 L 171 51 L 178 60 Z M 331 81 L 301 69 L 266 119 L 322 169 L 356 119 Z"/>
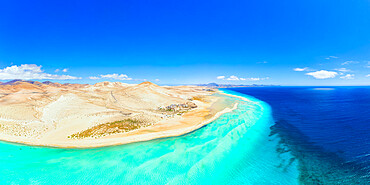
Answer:
<path fill-rule="evenodd" d="M 100 124 L 84 130 L 82 132 L 78 132 L 76 134 L 72 134 L 68 136 L 68 138 L 73 139 L 82 139 L 87 137 L 98 138 L 106 135 L 111 134 L 118 134 L 124 133 L 132 130 L 139 129 L 141 127 L 149 126 L 150 124 L 138 119 L 125 119 L 120 121 L 114 121 L 109 123 Z"/>

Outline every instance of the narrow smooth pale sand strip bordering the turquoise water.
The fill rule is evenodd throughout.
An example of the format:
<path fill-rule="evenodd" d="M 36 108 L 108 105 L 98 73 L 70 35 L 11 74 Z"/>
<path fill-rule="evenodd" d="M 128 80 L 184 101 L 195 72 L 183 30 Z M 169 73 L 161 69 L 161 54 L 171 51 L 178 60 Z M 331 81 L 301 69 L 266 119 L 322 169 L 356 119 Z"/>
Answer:
<path fill-rule="evenodd" d="M 228 97 L 239 98 L 243 101 L 249 101 L 247 98 L 227 94 L 219 91 L 218 94 L 225 95 Z M 115 145 L 123 145 L 129 143 L 136 143 L 142 141 L 149 141 L 160 138 L 176 137 L 185 135 L 192 131 L 195 131 L 212 121 L 219 118 L 221 115 L 231 112 L 237 109 L 238 103 L 234 103 L 233 106 L 226 107 L 221 111 L 216 112 L 211 118 L 205 119 L 205 113 L 210 107 L 204 106 L 201 108 L 196 108 L 189 113 L 186 113 L 182 117 L 164 120 L 160 124 L 154 124 L 149 127 L 140 128 L 126 133 L 108 135 L 103 138 L 97 139 L 80 139 L 80 140 L 38 140 L 38 139 L 26 139 L 20 137 L 10 137 L 5 134 L 0 135 L 0 140 L 11 143 L 25 144 L 31 146 L 41 146 L 41 147 L 56 147 L 56 148 L 98 148 L 107 147 Z M 166 127 L 172 127 L 168 129 Z"/>

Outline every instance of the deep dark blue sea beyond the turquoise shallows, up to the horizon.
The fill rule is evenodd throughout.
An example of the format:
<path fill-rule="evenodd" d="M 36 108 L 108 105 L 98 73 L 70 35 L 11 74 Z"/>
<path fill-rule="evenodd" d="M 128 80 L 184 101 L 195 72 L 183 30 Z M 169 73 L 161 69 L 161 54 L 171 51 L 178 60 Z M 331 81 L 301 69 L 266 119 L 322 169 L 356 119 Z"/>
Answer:
<path fill-rule="evenodd" d="M 370 184 L 370 87 L 230 90 L 271 106 L 271 135 L 298 159 L 301 183 Z"/>

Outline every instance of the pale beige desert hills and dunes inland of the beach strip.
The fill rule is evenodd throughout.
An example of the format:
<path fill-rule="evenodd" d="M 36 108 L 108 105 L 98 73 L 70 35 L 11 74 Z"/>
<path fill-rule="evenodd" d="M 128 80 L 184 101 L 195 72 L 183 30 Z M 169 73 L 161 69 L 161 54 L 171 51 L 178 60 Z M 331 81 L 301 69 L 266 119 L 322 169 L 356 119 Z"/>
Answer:
<path fill-rule="evenodd" d="M 199 87 L 158 86 L 151 82 L 88 85 L 13 80 L 0 84 L 0 138 L 21 138 L 31 143 L 71 142 L 71 136 L 76 139 L 81 133 L 92 133 L 94 137 L 103 136 L 100 132 L 104 129 L 111 129 L 107 131 L 110 134 L 121 133 L 122 128 L 128 131 L 155 125 L 197 105 L 208 105 L 192 98 L 210 94 Z M 108 123 L 131 127 L 102 126 Z M 92 128 L 99 128 L 100 135 Z"/>

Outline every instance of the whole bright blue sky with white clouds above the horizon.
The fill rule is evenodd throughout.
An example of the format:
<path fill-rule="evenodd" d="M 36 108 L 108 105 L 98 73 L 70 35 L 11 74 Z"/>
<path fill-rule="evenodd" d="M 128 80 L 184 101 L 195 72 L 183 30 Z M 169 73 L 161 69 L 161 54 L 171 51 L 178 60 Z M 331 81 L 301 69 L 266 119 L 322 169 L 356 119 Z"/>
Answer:
<path fill-rule="evenodd" d="M 0 1 L 0 80 L 370 85 L 369 33 L 368 0 Z"/>

